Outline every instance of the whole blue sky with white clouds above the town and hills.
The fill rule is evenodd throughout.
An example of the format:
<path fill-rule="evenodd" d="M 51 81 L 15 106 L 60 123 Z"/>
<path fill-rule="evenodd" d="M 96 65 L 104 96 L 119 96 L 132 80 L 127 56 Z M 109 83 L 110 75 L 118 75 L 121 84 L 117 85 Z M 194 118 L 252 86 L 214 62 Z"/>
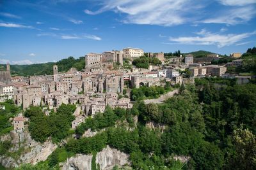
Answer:
<path fill-rule="evenodd" d="M 58 61 L 89 52 L 207 50 L 256 44 L 255 0 L 0 1 L 0 63 Z"/>

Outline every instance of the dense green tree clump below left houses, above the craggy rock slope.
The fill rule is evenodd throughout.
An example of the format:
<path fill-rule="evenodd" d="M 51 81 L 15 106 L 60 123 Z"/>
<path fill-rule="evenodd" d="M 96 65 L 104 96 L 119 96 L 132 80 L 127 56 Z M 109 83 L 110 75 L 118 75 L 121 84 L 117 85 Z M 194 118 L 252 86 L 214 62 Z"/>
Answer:
<path fill-rule="evenodd" d="M 71 122 L 74 120 L 72 113 L 75 110 L 75 105 L 61 104 L 56 113 L 45 116 L 41 108 L 29 108 L 24 115 L 30 118 L 29 132 L 32 138 L 41 143 L 50 136 L 55 142 L 61 141 L 69 135 Z"/>

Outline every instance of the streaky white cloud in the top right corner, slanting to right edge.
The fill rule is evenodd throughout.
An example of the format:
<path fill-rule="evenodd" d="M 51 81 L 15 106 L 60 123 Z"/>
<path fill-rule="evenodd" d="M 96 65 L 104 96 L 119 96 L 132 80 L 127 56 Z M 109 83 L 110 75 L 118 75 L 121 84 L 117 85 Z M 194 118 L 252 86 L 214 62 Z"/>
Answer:
<path fill-rule="evenodd" d="M 256 11 L 253 6 L 246 6 L 241 8 L 234 8 L 232 10 L 225 10 L 223 13 L 218 13 L 218 15 L 212 18 L 202 20 L 202 22 L 236 25 L 248 22 L 254 17 L 255 14 Z"/>

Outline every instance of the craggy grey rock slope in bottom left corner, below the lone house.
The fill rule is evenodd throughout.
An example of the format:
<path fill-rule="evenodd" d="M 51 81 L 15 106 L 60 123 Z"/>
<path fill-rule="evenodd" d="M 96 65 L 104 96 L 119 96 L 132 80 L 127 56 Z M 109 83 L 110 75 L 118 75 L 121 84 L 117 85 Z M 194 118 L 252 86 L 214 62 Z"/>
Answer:
<path fill-rule="evenodd" d="M 45 141 L 45 143 L 38 143 L 33 140 L 28 132 L 28 128 L 24 131 L 11 131 L 10 134 L 1 136 L 1 141 L 11 141 L 11 148 L 9 152 L 17 152 L 22 150 L 21 155 L 18 155 L 15 159 L 12 157 L 6 157 L 2 155 L 0 157 L 0 163 L 4 167 L 17 167 L 19 164 L 36 164 L 40 161 L 47 159 L 49 155 L 57 148 L 56 144 L 51 141 Z"/>

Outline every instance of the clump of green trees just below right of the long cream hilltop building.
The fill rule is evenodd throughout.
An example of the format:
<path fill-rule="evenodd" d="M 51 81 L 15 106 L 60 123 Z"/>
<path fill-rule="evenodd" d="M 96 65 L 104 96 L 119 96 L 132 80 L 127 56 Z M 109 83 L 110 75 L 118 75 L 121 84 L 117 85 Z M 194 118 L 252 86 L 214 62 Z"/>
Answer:
<path fill-rule="evenodd" d="M 152 64 L 154 66 L 158 66 L 162 64 L 162 62 L 157 59 L 156 57 L 149 58 L 145 56 L 141 56 L 139 59 L 134 59 L 132 61 L 132 64 L 136 66 L 137 68 L 145 68 L 148 69 L 149 65 Z"/>

